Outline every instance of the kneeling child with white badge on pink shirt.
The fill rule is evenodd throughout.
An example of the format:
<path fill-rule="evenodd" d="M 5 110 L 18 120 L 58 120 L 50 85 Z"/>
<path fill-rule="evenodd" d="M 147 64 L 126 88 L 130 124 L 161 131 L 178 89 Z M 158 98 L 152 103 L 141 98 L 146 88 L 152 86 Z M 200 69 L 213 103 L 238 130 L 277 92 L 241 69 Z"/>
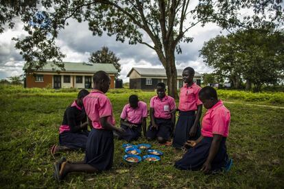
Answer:
<path fill-rule="evenodd" d="M 176 102 L 165 95 L 165 84 L 157 84 L 157 96 L 150 101 L 151 125 L 147 129 L 147 140 L 157 138 L 163 144 L 169 140 L 176 122 Z"/>

